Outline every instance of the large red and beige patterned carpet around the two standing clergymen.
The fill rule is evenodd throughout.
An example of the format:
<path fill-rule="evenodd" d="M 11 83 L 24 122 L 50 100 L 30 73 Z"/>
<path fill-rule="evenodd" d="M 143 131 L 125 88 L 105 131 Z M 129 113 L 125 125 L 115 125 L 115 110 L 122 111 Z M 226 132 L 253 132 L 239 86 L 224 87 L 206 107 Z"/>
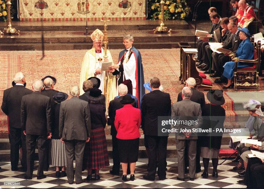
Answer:
<path fill-rule="evenodd" d="M 118 61 L 120 51 L 121 49 L 111 50 L 115 63 Z M 85 52 L 86 50 L 45 51 L 45 58 L 40 60 L 41 51 L 5 51 L 0 55 L 2 64 L 0 102 L 2 102 L 3 90 L 12 86 L 13 75 L 19 71 L 26 75 L 26 87 L 29 89 L 35 79 L 51 75 L 57 79 L 55 90 L 69 94 L 70 86 L 79 85 L 79 75 Z M 176 102 L 177 95 L 183 87 L 178 80 L 180 49 L 142 49 L 140 52 L 145 82 L 148 82 L 153 76 L 159 77 L 164 92 L 170 93 L 172 102 Z M 211 79 L 211 81 L 213 80 Z M 215 83 L 213 86 L 215 89 L 221 89 L 221 86 Z M 234 116 L 232 100 L 226 94 L 224 96 L 226 99 L 224 108 L 229 112 L 227 115 Z M 0 111 L 0 138 L 3 137 L 7 137 L 7 116 Z"/>

